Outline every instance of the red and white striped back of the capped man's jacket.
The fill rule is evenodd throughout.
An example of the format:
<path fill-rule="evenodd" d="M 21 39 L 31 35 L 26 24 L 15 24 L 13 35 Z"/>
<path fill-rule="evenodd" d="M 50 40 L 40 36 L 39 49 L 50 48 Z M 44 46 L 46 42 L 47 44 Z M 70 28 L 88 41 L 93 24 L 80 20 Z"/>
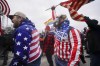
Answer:
<path fill-rule="evenodd" d="M 30 43 L 29 63 L 38 59 L 42 53 L 39 45 L 39 33 L 37 30 L 32 32 L 32 41 Z"/>

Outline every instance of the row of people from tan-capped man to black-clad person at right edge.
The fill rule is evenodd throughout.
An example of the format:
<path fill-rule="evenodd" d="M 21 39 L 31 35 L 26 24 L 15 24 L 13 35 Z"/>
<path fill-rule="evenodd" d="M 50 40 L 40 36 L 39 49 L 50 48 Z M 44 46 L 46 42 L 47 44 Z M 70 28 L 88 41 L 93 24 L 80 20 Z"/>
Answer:
<path fill-rule="evenodd" d="M 14 57 L 9 66 L 40 66 L 41 57 L 46 56 L 49 66 L 77 66 L 84 59 L 84 48 L 90 56 L 90 66 L 100 66 L 100 26 L 98 21 L 85 16 L 88 29 L 84 32 L 70 26 L 66 15 L 57 17 L 54 30 L 46 26 L 39 34 L 35 24 L 22 12 L 10 15 L 13 27 L 12 52 Z M 53 58 L 54 56 L 54 61 Z"/>

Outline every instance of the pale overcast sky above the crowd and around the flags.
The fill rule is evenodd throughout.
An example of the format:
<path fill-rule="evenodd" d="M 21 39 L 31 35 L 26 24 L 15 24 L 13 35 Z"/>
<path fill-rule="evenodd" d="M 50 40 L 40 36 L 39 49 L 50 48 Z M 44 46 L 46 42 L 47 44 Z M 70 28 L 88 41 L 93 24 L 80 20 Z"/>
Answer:
<path fill-rule="evenodd" d="M 27 17 L 32 20 L 38 30 L 43 30 L 44 22 L 51 18 L 51 10 L 45 11 L 53 5 L 57 5 L 60 2 L 66 0 L 7 0 L 10 6 L 10 14 L 14 14 L 17 11 L 23 12 Z M 95 0 L 89 4 L 84 5 L 78 11 L 80 14 L 89 16 L 90 18 L 100 21 L 100 0 Z M 85 23 L 76 22 L 71 19 L 69 12 L 66 8 L 58 6 L 56 8 L 56 14 L 66 14 L 71 22 L 71 25 L 81 30 L 87 26 Z"/>

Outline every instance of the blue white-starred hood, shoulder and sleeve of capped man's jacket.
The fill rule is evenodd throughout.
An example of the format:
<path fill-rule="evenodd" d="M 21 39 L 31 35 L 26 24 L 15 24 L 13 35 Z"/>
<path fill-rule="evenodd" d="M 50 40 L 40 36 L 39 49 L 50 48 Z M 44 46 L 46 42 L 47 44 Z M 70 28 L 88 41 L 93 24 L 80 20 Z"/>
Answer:
<path fill-rule="evenodd" d="M 30 51 L 30 42 L 32 40 L 31 32 L 35 30 L 33 25 L 22 22 L 14 32 L 13 53 L 14 58 L 9 66 L 27 66 Z"/>

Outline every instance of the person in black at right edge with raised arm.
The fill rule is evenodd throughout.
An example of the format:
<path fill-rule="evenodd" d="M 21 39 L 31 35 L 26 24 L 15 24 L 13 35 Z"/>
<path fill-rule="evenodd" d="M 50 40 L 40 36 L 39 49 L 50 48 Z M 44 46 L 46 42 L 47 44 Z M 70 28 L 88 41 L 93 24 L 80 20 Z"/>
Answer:
<path fill-rule="evenodd" d="M 90 54 L 90 66 L 100 66 L 100 25 L 96 19 L 84 17 L 89 27 L 87 32 L 87 47 Z"/>

